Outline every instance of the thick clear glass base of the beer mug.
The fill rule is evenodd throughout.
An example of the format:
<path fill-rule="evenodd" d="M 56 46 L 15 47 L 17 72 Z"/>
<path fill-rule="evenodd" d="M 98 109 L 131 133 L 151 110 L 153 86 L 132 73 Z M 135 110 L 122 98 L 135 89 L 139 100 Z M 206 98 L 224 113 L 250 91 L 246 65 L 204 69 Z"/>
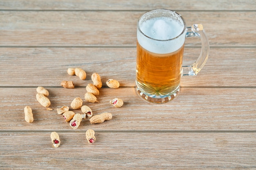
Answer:
<path fill-rule="evenodd" d="M 166 103 L 173 100 L 180 92 L 180 86 L 178 86 L 174 91 L 167 93 L 165 95 L 160 95 L 160 94 L 155 95 L 159 92 L 151 91 L 150 93 L 147 93 L 139 86 L 138 82 L 136 81 L 136 91 L 142 99 L 151 103 L 160 104 L 160 103 Z"/>

